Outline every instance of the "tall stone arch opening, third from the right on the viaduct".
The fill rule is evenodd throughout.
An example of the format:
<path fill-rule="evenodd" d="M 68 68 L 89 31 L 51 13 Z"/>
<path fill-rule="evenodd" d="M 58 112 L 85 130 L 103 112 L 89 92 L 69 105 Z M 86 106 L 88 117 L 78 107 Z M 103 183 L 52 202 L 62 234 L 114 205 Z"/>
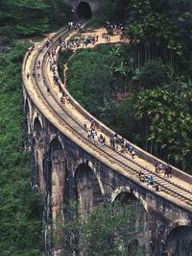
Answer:
<path fill-rule="evenodd" d="M 81 214 L 89 214 L 103 201 L 103 194 L 94 170 L 87 163 L 78 166 L 75 173 L 76 198 Z"/>

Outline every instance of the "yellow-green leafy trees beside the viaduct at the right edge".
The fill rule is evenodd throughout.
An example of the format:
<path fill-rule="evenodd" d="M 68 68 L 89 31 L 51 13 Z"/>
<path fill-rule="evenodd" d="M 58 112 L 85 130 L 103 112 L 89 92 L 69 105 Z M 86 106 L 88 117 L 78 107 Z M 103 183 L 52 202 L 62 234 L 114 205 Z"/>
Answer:
<path fill-rule="evenodd" d="M 192 153 L 191 96 L 191 83 L 175 81 L 171 88 L 141 91 L 133 106 L 141 131 L 148 127 L 145 137 L 152 152 L 188 171 Z"/>

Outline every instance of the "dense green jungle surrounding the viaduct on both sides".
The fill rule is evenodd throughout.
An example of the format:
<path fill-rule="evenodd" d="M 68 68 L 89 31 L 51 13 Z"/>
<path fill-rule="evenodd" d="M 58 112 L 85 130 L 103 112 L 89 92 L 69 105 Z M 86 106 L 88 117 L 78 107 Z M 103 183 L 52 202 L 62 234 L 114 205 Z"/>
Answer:
<path fill-rule="evenodd" d="M 126 24 L 129 44 L 79 50 L 68 90 L 133 143 L 191 173 L 192 5 L 186 0 L 103 0 L 87 26 Z M 0 254 L 43 255 L 42 198 L 30 185 L 21 64 L 32 41 L 65 26 L 60 0 L 0 1 Z M 60 53 L 62 64 L 71 53 Z M 80 79 L 81 78 L 81 79 Z M 93 227 L 95 228 L 95 227 Z"/>

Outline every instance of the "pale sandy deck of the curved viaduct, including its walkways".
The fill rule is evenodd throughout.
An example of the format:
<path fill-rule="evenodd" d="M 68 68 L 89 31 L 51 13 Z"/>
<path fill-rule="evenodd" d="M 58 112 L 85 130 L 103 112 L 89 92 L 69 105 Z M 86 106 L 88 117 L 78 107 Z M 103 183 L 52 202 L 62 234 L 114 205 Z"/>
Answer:
<path fill-rule="evenodd" d="M 73 34 L 74 33 L 72 33 L 70 37 Z M 56 38 L 54 42 L 57 40 L 58 38 Z M 91 155 L 116 171 L 119 171 L 124 176 L 131 178 L 134 182 L 139 183 L 140 186 L 144 186 L 148 188 L 148 190 L 155 192 L 154 188 L 148 187 L 147 183 L 142 183 L 138 179 L 139 171 L 142 171 L 146 176 L 153 174 L 155 182 L 161 188 L 161 191 L 157 192 L 157 194 L 192 211 L 192 190 L 190 182 L 185 182 L 175 176 L 173 176 L 171 180 L 165 179 L 163 178 L 163 174 L 156 173 L 155 166 L 149 162 L 139 157 L 135 157 L 135 159 L 132 160 L 129 154 L 126 154 L 126 156 L 121 155 L 109 146 L 96 146 L 93 141 L 87 139 L 87 132 L 83 127 L 84 115 L 74 108 L 74 105 L 71 103 L 66 103 L 65 107 L 60 106 L 60 91 L 58 87 L 54 85 L 53 75 L 50 71 L 48 61 L 46 58 L 44 59 L 48 50 L 49 48 L 44 48 L 38 53 L 35 49 L 28 57 L 24 66 L 24 86 L 38 110 L 45 115 L 61 133 L 83 147 L 84 150 Z M 46 62 L 42 64 L 44 60 Z M 31 75 L 30 79 L 26 79 L 28 72 L 30 74 L 33 73 L 36 61 L 40 61 L 41 63 L 41 68 L 39 69 L 40 78 L 38 79 L 36 75 L 35 77 Z M 51 93 L 47 92 L 42 77 L 45 77 L 46 81 L 49 82 Z M 105 135 L 105 137 L 108 143 L 109 138 L 107 135 Z"/>

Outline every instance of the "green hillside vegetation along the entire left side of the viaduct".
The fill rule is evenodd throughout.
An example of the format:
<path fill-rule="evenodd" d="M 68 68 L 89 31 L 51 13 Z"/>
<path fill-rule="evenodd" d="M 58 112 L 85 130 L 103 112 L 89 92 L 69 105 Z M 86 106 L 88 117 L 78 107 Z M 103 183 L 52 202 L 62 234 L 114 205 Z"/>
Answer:
<path fill-rule="evenodd" d="M 0 1 L 1 256 L 43 254 L 42 198 L 32 191 L 30 153 L 24 150 L 21 64 L 30 44 L 23 41 L 59 28 L 69 18 L 68 7 L 59 0 Z"/>

